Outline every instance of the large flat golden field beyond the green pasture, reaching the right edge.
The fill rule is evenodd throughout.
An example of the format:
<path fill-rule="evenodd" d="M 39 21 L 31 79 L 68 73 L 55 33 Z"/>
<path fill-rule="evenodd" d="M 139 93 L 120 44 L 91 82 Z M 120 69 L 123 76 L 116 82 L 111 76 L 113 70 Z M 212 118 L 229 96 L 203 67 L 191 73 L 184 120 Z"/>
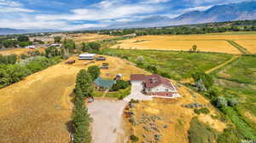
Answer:
<path fill-rule="evenodd" d="M 241 54 L 236 47 L 230 45 L 226 40 L 256 40 L 256 34 L 143 36 L 120 41 L 112 48 L 187 51 L 195 44 L 200 51 Z"/>

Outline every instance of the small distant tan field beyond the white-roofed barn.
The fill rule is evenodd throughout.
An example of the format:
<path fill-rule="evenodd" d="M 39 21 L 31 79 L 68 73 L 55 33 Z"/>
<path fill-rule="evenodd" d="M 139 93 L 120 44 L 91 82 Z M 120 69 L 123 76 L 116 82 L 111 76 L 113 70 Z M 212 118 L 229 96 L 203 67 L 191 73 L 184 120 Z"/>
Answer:
<path fill-rule="evenodd" d="M 113 36 L 79 33 L 79 34 L 69 34 L 67 37 L 73 39 L 76 43 L 83 43 L 83 42 L 100 41 L 100 40 L 112 38 Z"/>

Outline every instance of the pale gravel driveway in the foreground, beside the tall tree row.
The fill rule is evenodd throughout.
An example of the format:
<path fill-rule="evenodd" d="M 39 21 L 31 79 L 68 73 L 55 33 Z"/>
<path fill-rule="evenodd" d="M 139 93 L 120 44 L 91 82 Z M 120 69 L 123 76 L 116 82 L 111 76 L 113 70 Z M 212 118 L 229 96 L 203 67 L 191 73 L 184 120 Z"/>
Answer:
<path fill-rule="evenodd" d="M 126 104 L 124 100 L 96 100 L 88 105 L 93 118 L 93 143 L 120 143 L 118 137 L 124 134 L 122 114 Z"/>

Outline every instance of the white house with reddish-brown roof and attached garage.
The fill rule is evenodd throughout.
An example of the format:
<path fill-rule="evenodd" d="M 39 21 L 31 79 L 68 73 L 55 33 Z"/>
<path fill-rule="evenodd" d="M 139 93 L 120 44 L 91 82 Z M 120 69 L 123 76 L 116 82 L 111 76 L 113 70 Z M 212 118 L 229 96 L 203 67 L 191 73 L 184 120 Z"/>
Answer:
<path fill-rule="evenodd" d="M 143 86 L 143 93 L 152 97 L 176 98 L 180 96 L 172 82 L 159 75 L 132 74 L 131 85 Z"/>

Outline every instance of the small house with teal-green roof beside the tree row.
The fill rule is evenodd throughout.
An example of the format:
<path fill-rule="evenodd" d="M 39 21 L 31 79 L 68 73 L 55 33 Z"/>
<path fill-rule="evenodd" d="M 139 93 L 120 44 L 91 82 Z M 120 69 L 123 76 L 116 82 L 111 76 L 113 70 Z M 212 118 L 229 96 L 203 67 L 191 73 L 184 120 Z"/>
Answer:
<path fill-rule="evenodd" d="M 102 77 L 97 77 L 93 83 L 94 83 L 96 89 L 105 91 L 107 89 L 112 88 L 115 81 L 110 80 L 110 79 L 103 79 Z"/>

